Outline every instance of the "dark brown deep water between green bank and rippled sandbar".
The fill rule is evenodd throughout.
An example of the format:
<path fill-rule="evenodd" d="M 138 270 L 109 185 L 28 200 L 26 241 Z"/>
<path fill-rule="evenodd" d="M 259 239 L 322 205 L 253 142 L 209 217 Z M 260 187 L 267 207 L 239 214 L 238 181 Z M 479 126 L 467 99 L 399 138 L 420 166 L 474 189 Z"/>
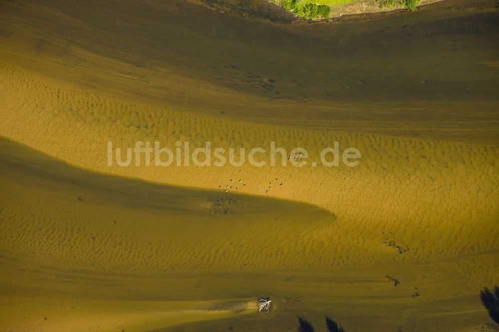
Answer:
<path fill-rule="evenodd" d="M 175 0 L 16 1 L 1 4 L 0 47 L 33 52 L 10 56 L 46 75 L 187 112 L 497 143 L 495 6 L 449 0 L 285 24 Z"/>

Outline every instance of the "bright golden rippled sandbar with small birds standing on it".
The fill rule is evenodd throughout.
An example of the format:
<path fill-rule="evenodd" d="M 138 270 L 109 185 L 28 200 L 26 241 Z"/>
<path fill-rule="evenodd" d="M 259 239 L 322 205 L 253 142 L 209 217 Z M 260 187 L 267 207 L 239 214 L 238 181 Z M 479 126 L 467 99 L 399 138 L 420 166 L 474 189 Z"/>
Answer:
<path fill-rule="evenodd" d="M 7 96 L 0 124 L 2 135 L 72 165 L 100 172 L 219 190 L 238 176 L 241 168 L 108 167 L 107 141 L 122 148 L 138 140 L 157 140 L 171 146 L 180 140 L 190 141 L 192 146 L 211 141 L 214 146 L 248 149 L 267 147 L 270 141 L 276 141 L 286 149 L 306 148 L 311 156 L 318 156 L 319 149 L 332 146 L 334 141 L 340 142 L 340 149 L 356 147 L 362 160 L 353 168 L 243 167 L 247 186 L 239 193 L 307 202 L 336 216 L 327 231 L 309 215 L 296 226 L 298 233 L 293 234 L 299 236 L 287 239 L 283 235 L 289 243 L 304 248 L 293 258 L 297 264 L 309 262 L 305 252 L 314 252 L 315 261 L 310 264 L 325 266 L 373 264 L 387 257 L 426 261 L 498 248 L 495 145 L 258 125 L 84 92 L 55 81 L 42 81 L 11 65 L 2 65 L 1 75 L 1 89 Z M 274 178 L 281 179 L 283 185 L 268 194 L 263 186 L 258 187 Z M 272 234 L 279 233 L 279 227 Z M 268 236 L 264 243 L 283 240 Z M 84 241 L 92 244 L 93 240 L 90 237 Z M 133 250 L 139 242 L 130 240 L 126 246 Z M 385 245 L 392 242 L 409 250 L 398 254 L 396 248 Z M 197 252 L 195 255 L 201 257 L 198 261 L 220 264 L 220 249 L 216 255 L 211 254 L 217 251 L 217 243 L 214 240 L 210 254 Z M 169 255 L 176 245 L 162 244 L 146 252 Z M 317 250 L 334 259 L 318 258 Z M 182 257 L 182 253 L 179 255 Z M 228 251 L 224 255 L 238 254 Z M 249 253 L 240 255 L 233 261 L 244 264 Z M 252 259 L 257 258 L 258 266 L 271 265 L 264 263 L 269 260 L 267 254 L 251 255 L 256 255 Z M 286 264 L 285 255 L 272 255 L 270 261 Z M 178 262 L 173 265 L 179 270 L 186 268 L 180 259 Z"/>

